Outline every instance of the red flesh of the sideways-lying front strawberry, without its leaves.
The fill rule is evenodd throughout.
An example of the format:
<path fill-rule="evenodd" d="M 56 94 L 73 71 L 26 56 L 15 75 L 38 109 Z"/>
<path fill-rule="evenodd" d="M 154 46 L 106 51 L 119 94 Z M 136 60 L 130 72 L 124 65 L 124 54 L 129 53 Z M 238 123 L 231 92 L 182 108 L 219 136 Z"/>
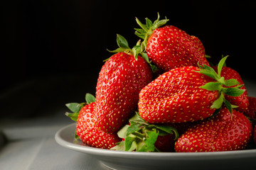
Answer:
<path fill-rule="evenodd" d="M 139 94 L 141 117 L 149 123 L 181 123 L 212 115 L 218 91 L 199 88 L 213 79 L 195 71 L 198 67 L 171 69 L 145 86 Z"/>

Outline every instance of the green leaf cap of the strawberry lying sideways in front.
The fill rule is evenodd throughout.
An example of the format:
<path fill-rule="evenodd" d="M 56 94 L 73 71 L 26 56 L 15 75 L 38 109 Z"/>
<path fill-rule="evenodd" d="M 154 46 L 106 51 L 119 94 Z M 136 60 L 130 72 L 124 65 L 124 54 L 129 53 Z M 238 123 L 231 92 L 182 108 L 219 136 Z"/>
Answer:
<path fill-rule="evenodd" d="M 215 70 L 212 67 L 209 67 L 205 64 L 203 65 L 198 64 L 198 67 L 200 67 L 200 71 L 196 71 L 215 79 L 214 82 L 208 82 L 207 84 L 201 86 L 201 89 L 219 92 L 219 97 L 213 102 L 213 105 L 210 106 L 210 108 L 216 108 L 216 111 L 215 113 L 213 113 L 213 115 L 217 114 L 220 111 L 220 108 L 224 103 L 232 116 L 233 108 L 238 108 L 238 106 L 232 105 L 228 100 L 226 100 L 225 95 L 237 97 L 245 92 L 244 89 L 240 89 L 240 87 L 242 87 L 244 84 L 240 84 L 238 80 L 236 79 L 225 80 L 224 77 L 220 76 L 221 70 L 223 69 L 225 60 L 227 60 L 227 58 L 228 56 L 223 57 L 223 59 L 220 60 L 220 62 L 218 63 L 218 72 L 215 72 Z"/>

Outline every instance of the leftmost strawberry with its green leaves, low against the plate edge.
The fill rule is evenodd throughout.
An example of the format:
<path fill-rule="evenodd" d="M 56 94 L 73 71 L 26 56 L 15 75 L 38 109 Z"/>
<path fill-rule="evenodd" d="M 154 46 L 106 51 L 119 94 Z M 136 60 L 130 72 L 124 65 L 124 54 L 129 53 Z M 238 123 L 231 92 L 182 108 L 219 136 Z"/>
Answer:
<path fill-rule="evenodd" d="M 77 122 L 75 138 L 91 147 L 110 149 L 120 141 L 116 133 L 106 133 L 95 128 L 95 96 L 86 94 L 86 103 L 68 103 L 66 106 L 73 113 L 65 113 L 72 120 Z"/>

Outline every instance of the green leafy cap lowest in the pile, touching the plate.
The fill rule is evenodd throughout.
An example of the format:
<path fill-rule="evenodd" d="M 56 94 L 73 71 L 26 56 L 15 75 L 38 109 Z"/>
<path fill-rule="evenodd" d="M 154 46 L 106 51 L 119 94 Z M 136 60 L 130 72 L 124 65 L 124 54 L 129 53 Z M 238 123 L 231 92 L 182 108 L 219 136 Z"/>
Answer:
<path fill-rule="evenodd" d="M 176 128 L 169 125 L 152 125 L 142 119 L 138 112 L 129 119 L 129 125 L 117 132 L 117 135 L 124 139 L 117 143 L 117 146 L 112 147 L 112 150 L 121 151 L 137 151 L 137 152 L 159 152 L 155 147 L 155 142 L 158 136 L 175 134 L 177 140 L 179 135 Z"/>

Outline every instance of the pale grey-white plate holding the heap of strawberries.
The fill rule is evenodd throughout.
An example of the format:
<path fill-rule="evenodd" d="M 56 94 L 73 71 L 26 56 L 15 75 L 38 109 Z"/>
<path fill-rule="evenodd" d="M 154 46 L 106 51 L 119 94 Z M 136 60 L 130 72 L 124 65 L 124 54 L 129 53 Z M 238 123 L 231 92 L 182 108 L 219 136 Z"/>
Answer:
<path fill-rule="evenodd" d="M 245 169 L 256 168 L 256 149 L 229 152 L 120 152 L 98 149 L 74 140 L 75 123 L 55 134 L 59 145 L 90 154 L 110 169 Z"/>

